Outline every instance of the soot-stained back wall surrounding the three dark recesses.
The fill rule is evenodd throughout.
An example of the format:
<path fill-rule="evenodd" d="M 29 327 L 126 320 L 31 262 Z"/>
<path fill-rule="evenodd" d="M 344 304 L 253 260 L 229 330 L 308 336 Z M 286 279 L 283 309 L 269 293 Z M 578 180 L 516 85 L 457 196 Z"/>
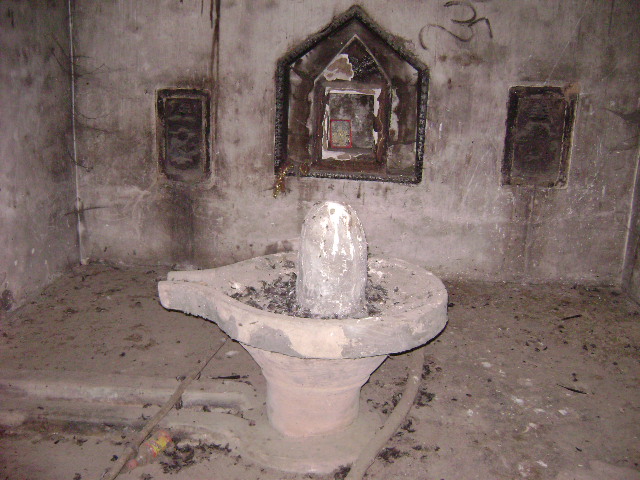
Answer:
<path fill-rule="evenodd" d="M 359 4 L 429 69 L 422 181 L 287 177 L 274 198 L 277 61 L 351 2 L 75 2 L 83 258 L 228 264 L 295 248 L 310 206 L 335 200 L 356 209 L 373 254 L 446 277 L 619 282 L 636 167 L 637 2 Z M 563 188 L 501 185 L 517 85 L 577 91 Z M 156 91 L 176 87 L 213 101 L 211 176 L 195 185 L 158 168 Z"/>

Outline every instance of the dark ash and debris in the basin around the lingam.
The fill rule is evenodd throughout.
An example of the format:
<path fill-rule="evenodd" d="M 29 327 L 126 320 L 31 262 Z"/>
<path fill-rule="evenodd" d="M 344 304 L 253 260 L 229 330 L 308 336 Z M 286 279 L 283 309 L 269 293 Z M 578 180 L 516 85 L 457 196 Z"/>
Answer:
<path fill-rule="evenodd" d="M 279 275 L 278 278 L 271 282 L 261 281 L 260 287 L 245 287 L 243 290 L 229 296 L 254 308 L 281 315 L 303 318 L 338 318 L 338 315 L 328 317 L 312 315 L 309 309 L 301 307 L 296 300 L 296 279 L 295 272 L 283 272 L 282 275 Z M 374 282 L 369 276 L 365 287 L 367 315 L 375 316 L 380 314 L 381 307 L 388 296 L 387 289 Z"/>

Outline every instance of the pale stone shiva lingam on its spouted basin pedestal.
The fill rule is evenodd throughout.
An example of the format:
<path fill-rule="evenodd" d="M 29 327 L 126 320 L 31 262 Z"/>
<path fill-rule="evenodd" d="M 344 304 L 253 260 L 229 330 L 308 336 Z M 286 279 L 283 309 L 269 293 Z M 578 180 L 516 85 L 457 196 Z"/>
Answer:
<path fill-rule="evenodd" d="M 303 316 L 242 301 L 247 292 L 283 278 L 295 279 L 296 312 Z M 402 260 L 368 258 L 356 212 L 335 202 L 309 211 L 297 253 L 171 272 L 158 288 L 165 308 L 214 321 L 261 367 L 267 417 L 275 430 L 270 441 L 344 439 L 333 467 L 354 460 L 368 439 L 366 430 L 380 426 L 379 419 L 367 417 L 363 430 L 358 421 L 360 389 L 371 373 L 389 354 L 434 338 L 447 321 L 442 282 Z M 368 301 L 368 288 L 384 295 Z M 349 430 L 357 428 L 358 439 L 349 438 Z M 326 462 L 303 464 L 306 471 L 328 468 Z"/>

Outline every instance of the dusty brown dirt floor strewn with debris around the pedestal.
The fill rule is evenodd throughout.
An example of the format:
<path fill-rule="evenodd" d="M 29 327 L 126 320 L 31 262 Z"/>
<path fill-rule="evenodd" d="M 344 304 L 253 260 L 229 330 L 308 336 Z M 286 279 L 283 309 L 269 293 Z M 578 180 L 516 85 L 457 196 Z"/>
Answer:
<path fill-rule="evenodd" d="M 239 344 L 225 342 L 211 322 L 159 305 L 157 281 L 165 275 L 92 265 L 60 278 L 2 318 L 0 376 L 77 379 L 80 387 L 82 379 L 148 377 L 177 386 L 222 347 L 199 381 L 240 381 L 262 398 L 264 379 Z M 447 289 L 449 323 L 426 347 L 421 391 L 366 478 L 640 478 L 636 304 L 604 287 L 449 282 Z M 406 372 L 406 356 L 390 357 L 363 387 L 382 417 Z M 54 420 L 55 402 L 36 392 L 16 404 L 10 383 L 5 378 L 0 388 L 2 479 L 103 478 L 139 428 Z M 138 407 L 140 421 L 156 403 Z M 282 473 L 226 444 L 178 445 L 119 478 L 330 480 L 346 473 Z"/>

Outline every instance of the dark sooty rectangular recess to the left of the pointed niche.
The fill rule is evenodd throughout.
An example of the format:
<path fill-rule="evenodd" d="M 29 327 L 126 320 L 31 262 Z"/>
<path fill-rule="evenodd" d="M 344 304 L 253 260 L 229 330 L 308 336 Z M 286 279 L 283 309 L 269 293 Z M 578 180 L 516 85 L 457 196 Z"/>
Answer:
<path fill-rule="evenodd" d="M 168 179 L 192 184 L 208 177 L 209 103 L 204 90 L 158 90 L 158 163 Z"/>

